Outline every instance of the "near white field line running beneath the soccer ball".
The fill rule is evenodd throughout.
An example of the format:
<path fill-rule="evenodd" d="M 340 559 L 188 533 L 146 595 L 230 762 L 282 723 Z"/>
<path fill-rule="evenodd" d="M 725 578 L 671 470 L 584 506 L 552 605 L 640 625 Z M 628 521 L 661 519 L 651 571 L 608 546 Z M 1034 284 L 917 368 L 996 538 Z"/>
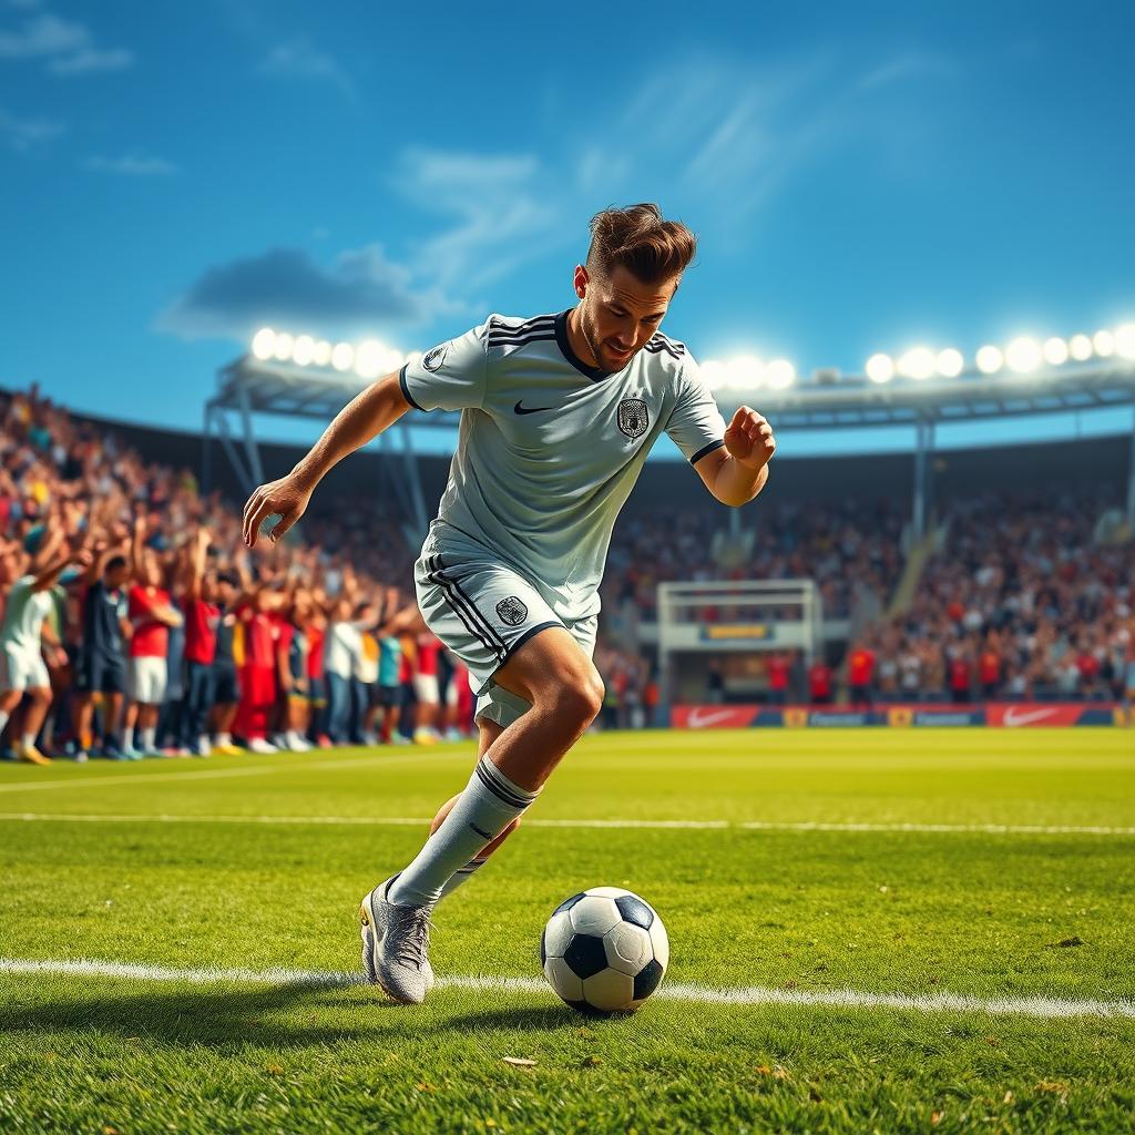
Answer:
<path fill-rule="evenodd" d="M 356 973 L 318 969 L 177 969 L 128 961 L 36 960 L 0 958 L 0 973 L 47 974 L 75 977 L 117 977 L 142 982 L 185 982 L 192 985 L 292 985 L 316 989 L 360 985 Z M 440 977 L 442 989 L 486 992 L 547 992 L 548 986 L 532 977 Z M 981 1012 L 995 1017 L 1119 1017 L 1135 1019 L 1135 1001 L 1100 1001 L 1073 998 L 978 998 L 960 993 L 865 993 L 860 990 L 779 990 L 755 985 L 741 989 L 714 989 L 706 985 L 664 985 L 656 997 L 663 1001 L 692 1001 L 703 1004 L 775 1004 L 835 1009 L 906 1009 L 915 1012 Z"/>

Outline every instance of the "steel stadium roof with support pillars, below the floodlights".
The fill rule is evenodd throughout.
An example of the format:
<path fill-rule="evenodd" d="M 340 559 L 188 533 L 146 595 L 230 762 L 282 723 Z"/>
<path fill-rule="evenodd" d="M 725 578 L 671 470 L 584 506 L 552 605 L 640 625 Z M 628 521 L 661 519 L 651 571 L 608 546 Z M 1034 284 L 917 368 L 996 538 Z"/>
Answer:
<path fill-rule="evenodd" d="M 330 365 L 262 359 L 251 352 L 234 360 L 218 371 L 217 393 L 205 405 L 204 484 L 209 484 L 209 442 L 212 438 L 225 447 L 237 476 L 251 491 L 263 481 L 253 429 L 254 414 L 328 422 L 369 385 L 369 378 L 339 372 Z M 757 402 L 780 432 L 856 426 L 914 427 L 911 523 L 916 535 L 925 531 L 928 520 L 934 436 L 939 424 L 1132 406 L 1127 514 L 1135 527 L 1135 359 L 1112 355 L 1083 362 L 1069 360 L 1061 365 L 1041 364 L 1028 373 L 967 371 L 950 378 L 900 378 L 886 382 L 860 377 L 813 379 L 780 389 L 718 388 L 715 396 L 726 412 L 742 402 Z M 405 515 L 411 520 L 413 535 L 418 537 L 424 535 L 429 518 L 412 431 L 452 430 L 459 417 L 456 412 L 446 411 L 414 413 L 412 418 L 402 418 L 377 442 L 380 452 L 401 457 L 401 461 L 390 462 L 392 479 Z"/>

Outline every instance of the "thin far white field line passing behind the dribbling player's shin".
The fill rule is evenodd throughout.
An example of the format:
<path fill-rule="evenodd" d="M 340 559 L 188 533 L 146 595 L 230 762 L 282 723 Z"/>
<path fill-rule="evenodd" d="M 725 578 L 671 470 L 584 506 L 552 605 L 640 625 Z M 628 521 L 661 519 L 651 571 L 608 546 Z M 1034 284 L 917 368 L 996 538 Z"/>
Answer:
<path fill-rule="evenodd" d="M 204 775 L 199 773 L 199 775 Z M 213 815 L 104 815 L 67 812 L 0 812 L 0 821 L 70 822 L 86 824 L 281 824 L 330 827 L 421 827 L 430 823 L 426 816 L 213 816 Z M 603 829 L 743 829 L 766 832 L 911 832 L 927 834 L 978 835 L 1135 835 L 1135 827 L 1108 827 L 1099 824 L 867 824 L 867 823 L 772 823 L 750 821 L 734 824 L 728 819 L 526 819 L 532 827 L 603 827 Z"/>

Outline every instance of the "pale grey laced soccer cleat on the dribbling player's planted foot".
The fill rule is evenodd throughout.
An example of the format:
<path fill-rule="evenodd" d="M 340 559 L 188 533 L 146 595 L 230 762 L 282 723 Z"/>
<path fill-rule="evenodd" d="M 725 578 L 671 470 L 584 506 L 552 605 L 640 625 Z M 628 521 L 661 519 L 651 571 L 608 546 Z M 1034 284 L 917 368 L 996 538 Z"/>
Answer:
<path fill-rule="evenodd" d="M 434 987 L 429 964 L 429 907 L 400 907 L 386 893 L 397 878 L 380 883 L 363 900 L 362 969 L 367 981 L 402 1004 L 421 1004 Z"/>

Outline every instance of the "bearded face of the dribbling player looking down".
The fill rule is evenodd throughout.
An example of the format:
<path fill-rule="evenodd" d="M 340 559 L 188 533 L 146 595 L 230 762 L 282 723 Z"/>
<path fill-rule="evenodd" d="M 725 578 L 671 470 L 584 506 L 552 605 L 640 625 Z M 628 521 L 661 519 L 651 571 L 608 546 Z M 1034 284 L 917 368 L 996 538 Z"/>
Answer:
<path fill-rule="evenodd" d="M 644 284 L 620 264 L 605 279 L 597 279 L 581 267 L 575 270 L 575 288 L 583 300 L 579 327 L 596 364 L 616 371 L 658 330 L 678 289 L 678 277 Z"/>

